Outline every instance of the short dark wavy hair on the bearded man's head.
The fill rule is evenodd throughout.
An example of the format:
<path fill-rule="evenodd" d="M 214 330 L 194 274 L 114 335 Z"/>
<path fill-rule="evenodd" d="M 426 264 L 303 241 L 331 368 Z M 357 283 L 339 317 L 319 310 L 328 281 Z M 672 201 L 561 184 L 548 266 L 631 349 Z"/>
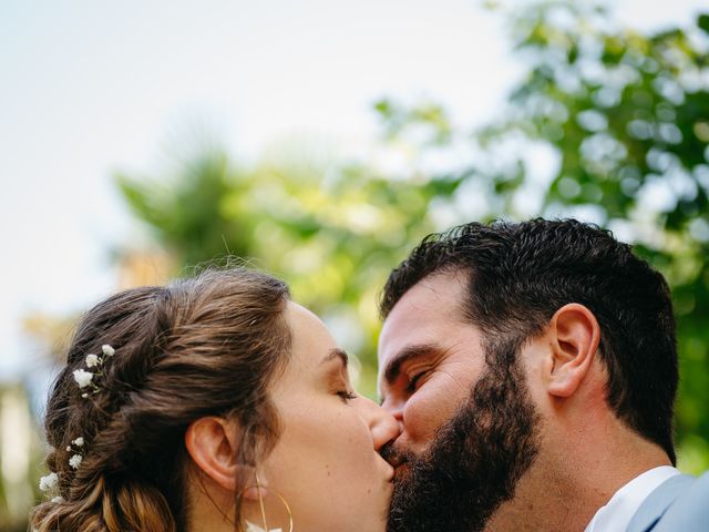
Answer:
<path fill-rule="evenodd" d="M 600 326 L 608 405 L 676 462 L 670 293 L 629 245 L 575 219 L 461 225 L 425 237 L 391 273 L 380 300 L 382 317 L 424 277 L 446 272 L 467 275 L 463 310 L 487 344 L 513 341 L 518 350 L 564 305 L 590 309 Z"/>

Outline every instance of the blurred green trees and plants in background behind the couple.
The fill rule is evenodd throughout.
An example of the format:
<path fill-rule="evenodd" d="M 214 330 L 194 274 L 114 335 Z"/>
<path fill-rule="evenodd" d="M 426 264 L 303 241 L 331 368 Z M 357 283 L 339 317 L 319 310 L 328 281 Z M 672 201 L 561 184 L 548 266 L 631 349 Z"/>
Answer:
<path fill-rule="evenodd" d="M 248 258 L 323 317 L 354 355 L 358 388 L 376 397 L 377 295 L 421 237 L 472 219 L 595 221 L 671 286 L 679 467 L 709 469 L 709 10 L 643 32 L 593 2 L 486 8 L 523 66 L 485 124 L 459 123 L 446 102 L 392 94 L 371 112 L 378 150 L 401 164 L 307 142 L 246 163 L 202 139 L 161 174 L 117 172 L 116 190 L 148 235 L 113 250 L 119 285 L 185 275 L 227 253 Z M 28 316 L 25 327 L 61 356 L 73 318 Z M 0 386 L 0 530 L 24 530 L 42 446 L 23 388 Z M 29 461 L 13 458 L 12 441 L 31 447 Z"/>

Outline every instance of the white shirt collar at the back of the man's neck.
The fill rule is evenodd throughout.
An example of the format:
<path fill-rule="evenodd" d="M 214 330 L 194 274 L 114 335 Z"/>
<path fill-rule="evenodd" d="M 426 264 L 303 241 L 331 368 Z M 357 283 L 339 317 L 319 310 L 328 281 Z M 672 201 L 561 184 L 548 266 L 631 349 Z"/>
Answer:
<path fill-rule="evenodd" d="M 676 474 L 679 474 L 677 469 L 660 466 L 636 477 L 616 491 L 608 503 L 596 512 L 585 532 L 624 532 L 643 501 Z"/>

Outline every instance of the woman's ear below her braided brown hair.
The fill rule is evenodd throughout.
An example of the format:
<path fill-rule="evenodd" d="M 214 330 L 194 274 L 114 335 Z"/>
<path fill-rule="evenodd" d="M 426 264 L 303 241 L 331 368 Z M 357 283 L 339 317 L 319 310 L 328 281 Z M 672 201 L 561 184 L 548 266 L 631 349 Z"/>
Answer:
<path fill-rule="evenodd" d="M 185 433 L 185 447 L 197 468 L 225 490 L 236 491 L 238 426 L 209 416 L 193 421 Z"/>

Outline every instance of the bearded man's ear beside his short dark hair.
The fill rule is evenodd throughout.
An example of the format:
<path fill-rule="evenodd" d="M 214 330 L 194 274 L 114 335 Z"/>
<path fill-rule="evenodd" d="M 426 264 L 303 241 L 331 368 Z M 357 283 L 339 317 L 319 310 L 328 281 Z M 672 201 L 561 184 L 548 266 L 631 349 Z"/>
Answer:
<path fill-rule="evenodd" d="M 571 397 L 596 358 L 600 326 L 588 308 L 571 303 L 554 314 L 548 334 L 552 347 L 548 392 L 556 397 Z"/>

